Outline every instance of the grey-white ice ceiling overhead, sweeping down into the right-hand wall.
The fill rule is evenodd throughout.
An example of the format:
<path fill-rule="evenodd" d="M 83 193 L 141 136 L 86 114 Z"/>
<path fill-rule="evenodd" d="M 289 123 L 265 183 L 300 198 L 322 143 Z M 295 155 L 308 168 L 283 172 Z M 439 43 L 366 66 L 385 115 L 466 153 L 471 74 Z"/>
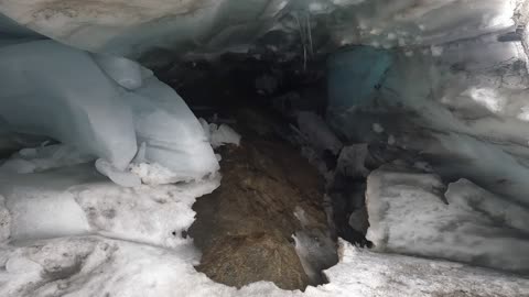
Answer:
<path fill-rule="evenodd" d="M 358 74 L 358 84 L 352 84 L 361 90 L 354 101 L 371 100 L 375 95 L 366 90 L 381 85 L 377 96 L 422 116 L 414 125 L 450 131 L 433 133 L 441 145 L 419 150 L 436 155 L 432 147 L 450 146 L 449 153 L 476 161 L 495 155 L 493 161 L 511 166 L 473 178 L 483 184 L 508 179 L 514 184 L 494 187 L 519 196 L 520 190 L 529 193 L 522 169 L 529 155 L 527 6 L 521 0 L 2 0 L 0 12 L 22 26 L 2 18 L 0 31 L 18 37 L 34 36 L 35 31 L 80 50 L 148 66 L 175 56 L 226 51 L 257 56 L 272 51 L 288 58 L 328 54 L 345 45 L 379 48 L 388 53 L 387 65 L 369 53 L 336 58 L 358 69 L 363 67 L 358 59 L 378 64 L 377 72 L 367 66 Z M 347 84 L 337 85 L 339 89 Z M 353 90 L 333 91 L 347 97 Z M 343 99 L 334 97 L 330 111 L 338 110 L 344 118 L 352 105 L 337 103 Z M 490 145 L 481 146 L 482 142 Z M 496 165 L 477 163 L 482 172 L 498 172 Z"/>

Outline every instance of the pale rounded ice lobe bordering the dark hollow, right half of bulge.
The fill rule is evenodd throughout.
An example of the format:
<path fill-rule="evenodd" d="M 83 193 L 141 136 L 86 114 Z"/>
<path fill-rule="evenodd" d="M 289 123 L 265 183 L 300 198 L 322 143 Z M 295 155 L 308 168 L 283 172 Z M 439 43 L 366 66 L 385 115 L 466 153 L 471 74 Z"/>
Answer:
<path fill-rule="evenodd" d="M 160 164 L 176 180 L 199 179 L 218 169 L 204 130 L 184 100 L 154 76 L 127 92 L 139 143 L 145 143 L 143 163 Z"/>

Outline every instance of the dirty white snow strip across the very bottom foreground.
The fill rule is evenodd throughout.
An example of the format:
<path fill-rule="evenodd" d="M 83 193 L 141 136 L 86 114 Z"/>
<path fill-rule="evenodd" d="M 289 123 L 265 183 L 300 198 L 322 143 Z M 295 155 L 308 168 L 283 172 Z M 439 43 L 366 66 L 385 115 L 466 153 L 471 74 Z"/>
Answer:
<path fill-rule="evenodd" d="M 271 283 L 237 290 L 192 266 L 191 244 L 164 250 L 100 237 L 33 241 L 2 249 L 2 296 L 528 296 L 527 279 L 508 278 L 454 263 L 357 250 L 342 242 L 342 262 L 326 272 L 331 284 L 305 293 Z M 419 280 L 421 279 L 421 280 Z"/>

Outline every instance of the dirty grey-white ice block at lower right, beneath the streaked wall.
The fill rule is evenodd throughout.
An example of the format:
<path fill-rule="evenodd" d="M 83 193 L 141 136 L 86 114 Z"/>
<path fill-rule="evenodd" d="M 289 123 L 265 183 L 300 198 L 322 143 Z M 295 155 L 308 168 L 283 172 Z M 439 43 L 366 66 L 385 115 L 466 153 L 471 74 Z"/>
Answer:
<path fill-rule="evenodd" d="M 529 209 L 467 182 L 388 166 L 367 182 L 367 239 L 380 252 L 529 272 Z"/>

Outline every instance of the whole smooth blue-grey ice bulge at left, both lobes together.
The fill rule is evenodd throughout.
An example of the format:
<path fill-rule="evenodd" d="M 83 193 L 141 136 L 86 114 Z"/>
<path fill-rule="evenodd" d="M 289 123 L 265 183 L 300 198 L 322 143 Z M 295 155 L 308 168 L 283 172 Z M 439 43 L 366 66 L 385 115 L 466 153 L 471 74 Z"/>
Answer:
<path fill-rule="evenodd" d="M 44 40 L 0 47 L 0 118 L 9 130 L 51 136 L 99 158 L 96 168 L 118 184 L 141 183 L 129 165 L 143 143 L 142 162 L 168 168 L 172 183 L 218 169 L 182 98 L 134 62 Z M 4 168 L 39 169 L 23 158 L 10 163 Z"/>

